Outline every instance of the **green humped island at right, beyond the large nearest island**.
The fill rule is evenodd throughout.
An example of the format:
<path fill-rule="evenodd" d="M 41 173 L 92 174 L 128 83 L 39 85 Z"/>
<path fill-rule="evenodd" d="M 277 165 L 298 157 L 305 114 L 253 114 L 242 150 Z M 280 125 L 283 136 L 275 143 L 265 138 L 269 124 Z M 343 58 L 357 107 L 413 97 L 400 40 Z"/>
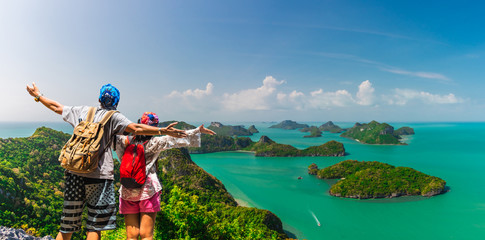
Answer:
<path fill-rule="evenodd" d="M 394 127 L 387 123 L 372 121 L 368 124 L 356 123 L 340 136 L 366 144 L 406 145 L 400 142 L 400 135 L 411 134 L 414 134 L 414 130 L 410 127 L 402 127 L 394 131 Z"/>

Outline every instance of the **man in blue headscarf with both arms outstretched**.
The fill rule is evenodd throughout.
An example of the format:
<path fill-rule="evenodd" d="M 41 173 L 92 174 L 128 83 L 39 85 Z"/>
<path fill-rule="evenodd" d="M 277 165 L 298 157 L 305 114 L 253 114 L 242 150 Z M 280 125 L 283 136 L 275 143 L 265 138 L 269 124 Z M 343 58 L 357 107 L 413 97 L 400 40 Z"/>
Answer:
<path fill-rule="evenodd" d="M 62 115 L 62 119 L 73 127 L 86 120 L 90 107 L 64 106 L 44 96 L 35 83 L 27 86 L 27 92 L 36 102 L 41 102 L 48 109 Z M 101 87 L 100 106 L 96 108 L 93 122 L 99 122 L 110 110 L 116 110 L 120 92 L 111 84 Z M 113 185 L 113 155 L 111 142 L 115 135 L 136 133 L 141 135 L 170 135 L 185 137 L 185 131 L 173 128 L 176 123 L 166 128 L 157 128 L 146 124 L 136 124 L 123 114 L 115 112 L 104 126 L 104 133 L 99 147 L 98 167 L 90 173 L 75 173 L 66 170 L 64 208 L 61 217 L 61 228 L 56 239 L 71 239 L 74 232 L 81 229 L 82 212 L 88 208 L 86 221 L 87 239 L 100 239 L 101 231 L 116 228 L 116 198 Z"/>

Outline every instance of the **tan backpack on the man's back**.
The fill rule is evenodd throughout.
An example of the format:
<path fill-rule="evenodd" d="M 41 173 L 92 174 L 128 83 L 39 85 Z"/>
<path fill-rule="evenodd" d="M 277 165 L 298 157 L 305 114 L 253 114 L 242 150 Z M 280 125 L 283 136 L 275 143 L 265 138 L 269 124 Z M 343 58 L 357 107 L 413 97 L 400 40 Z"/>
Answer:
<path fill-rule="evenodd" d="M 100 152 L 104 125 L 117 111 L 108 111 L 99 123 L 93 122 L 95 112 L 96 108 L 89 108 L 86 120 L 74 128 L 71 138 L 62 148 L 59 162 L 63 168 L 76 173 L 90 173 L 98 167 L 100 154 L 103 154 L 110 144 L 108 143 Z"/>

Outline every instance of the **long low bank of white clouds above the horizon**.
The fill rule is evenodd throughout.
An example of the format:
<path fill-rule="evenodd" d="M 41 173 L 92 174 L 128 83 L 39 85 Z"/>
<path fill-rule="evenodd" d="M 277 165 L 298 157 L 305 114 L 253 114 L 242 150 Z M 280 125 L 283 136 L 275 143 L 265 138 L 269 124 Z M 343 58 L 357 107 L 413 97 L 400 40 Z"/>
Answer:
<path fill-rule="evenodd" d="M 214 95 L 212 83 L 206 88 L 173 91 L 164 99 L 165 104 L 173 106 L 169 113 L 196 112 L 213 116 L 214 114 L 238 114 L 247 111 L 265 111 L 268 114 L 294 113 L 294 111 L 338 110 L 342 108 L 362 109 L 382 105 L 404 106 L 411 102 L 424 104 L 456 104 L 463 99 L 449 94 L 434 94 L 413 89 L 394 89 L 389 95 L 376 95 L 376 89 L 369 80 L 361 82 L 357 91 L 339 89 L 324 91 L 318 89 L 308 93 L 298 90 L 285 92 L 278 81 L 267 76 L 257 88 L 243 89 L 234 93 Z M 355 93 L 352 93 L 355 92 Z"/>

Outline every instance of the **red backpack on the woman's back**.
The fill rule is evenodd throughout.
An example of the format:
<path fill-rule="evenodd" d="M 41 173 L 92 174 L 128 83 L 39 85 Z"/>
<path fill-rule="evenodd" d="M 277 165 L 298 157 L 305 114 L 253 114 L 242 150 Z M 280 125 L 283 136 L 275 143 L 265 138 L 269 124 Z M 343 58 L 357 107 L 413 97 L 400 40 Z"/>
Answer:
<path fill-rule="evenodd" d="M 140 188 L 147 178 L 144 146 L 148 141 L 140 144 L 132 139 L 130 142 L 130 137 L 126 141 L 128 144 L 121 158 L 121 184 L 126 188 Z"/>

